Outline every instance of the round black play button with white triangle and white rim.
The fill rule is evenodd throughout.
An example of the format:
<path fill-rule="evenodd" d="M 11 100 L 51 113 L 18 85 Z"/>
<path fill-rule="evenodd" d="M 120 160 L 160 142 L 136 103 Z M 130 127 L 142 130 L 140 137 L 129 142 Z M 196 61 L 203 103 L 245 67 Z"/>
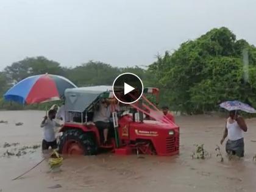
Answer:
<path fill-rule="evenodd" d="M 119 102 L 132 104 L 138 101 L 143 94 L 143 83 L 133 73 L 120 74 L 113 82 L 113 94 Z"/>

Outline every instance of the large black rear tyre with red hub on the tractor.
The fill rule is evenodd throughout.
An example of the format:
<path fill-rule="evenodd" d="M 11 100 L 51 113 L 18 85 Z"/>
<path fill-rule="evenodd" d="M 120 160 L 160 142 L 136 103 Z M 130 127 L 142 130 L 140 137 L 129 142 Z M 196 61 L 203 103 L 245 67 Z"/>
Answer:
<path fill-rule="evenodd" d="M 89 132 L 69 129 L 63 132 L 59 142 L 59 152 L 65 155 L 96 155 L 98 146 Z"/>

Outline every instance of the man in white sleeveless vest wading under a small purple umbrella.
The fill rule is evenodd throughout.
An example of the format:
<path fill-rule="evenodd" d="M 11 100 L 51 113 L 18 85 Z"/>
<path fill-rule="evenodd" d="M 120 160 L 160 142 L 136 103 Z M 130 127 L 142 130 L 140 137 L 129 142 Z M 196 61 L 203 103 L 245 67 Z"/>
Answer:
<path fill-rule="evenodd" d="M 244 135 L 247 132 L 247 126 L 244 118 L 239 116 L 236 111 L 230 111 L 224 130 L 221 144 L 227 137 L 226 152 L 230 155 L 244 157 Z"/>

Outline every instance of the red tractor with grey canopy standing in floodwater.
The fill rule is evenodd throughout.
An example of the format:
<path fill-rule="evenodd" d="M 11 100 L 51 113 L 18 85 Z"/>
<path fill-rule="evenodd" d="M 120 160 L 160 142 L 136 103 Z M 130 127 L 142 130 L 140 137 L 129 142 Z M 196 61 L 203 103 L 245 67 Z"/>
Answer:
<path fill-rule="evenodd" d="M 59 151 L 62 154 L 95 155 L 100 149 L 110 149 L 116 154 L 175 155 L 179 154 L 179 127 L 167 119 L 146 92 L 158 96 L 157 88 L 146 88 L 139 101 L 118 104 L 112 111 L 111 144 L 105 146 L 101 133 L 92 122 L 93 111 L 102 99 L 108 99 L 112 108 L 117 102 L 112 87 L 81 87 L 65 91 L 65 124 Z"/>

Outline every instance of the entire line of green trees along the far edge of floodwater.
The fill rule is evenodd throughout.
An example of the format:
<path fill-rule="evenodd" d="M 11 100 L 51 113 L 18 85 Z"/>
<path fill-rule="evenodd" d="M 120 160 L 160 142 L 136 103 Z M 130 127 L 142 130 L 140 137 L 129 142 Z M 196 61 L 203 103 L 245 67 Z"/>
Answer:
<path fill-rule="evenodd" d="M 58 74 L 81 87 L 112 85 L 115 77 L 125 72 L 140 76 L 146 87 L 160 88 L 160 105 L 168 104 L 174 111 L 215 111 L 220 102 L 234 99 L 256 107 L 256 48 L 246 40 L 237 40 L 226 27 L 212 29 L 173 52 L 158 55 L 148 68 L 119 68 L 94 61 L 66 68 L 45 57 L 26 58 L 0 73 L 0 93 L 34 74 Z M 0 107 L 8 108 L 1 103 Z"/>

